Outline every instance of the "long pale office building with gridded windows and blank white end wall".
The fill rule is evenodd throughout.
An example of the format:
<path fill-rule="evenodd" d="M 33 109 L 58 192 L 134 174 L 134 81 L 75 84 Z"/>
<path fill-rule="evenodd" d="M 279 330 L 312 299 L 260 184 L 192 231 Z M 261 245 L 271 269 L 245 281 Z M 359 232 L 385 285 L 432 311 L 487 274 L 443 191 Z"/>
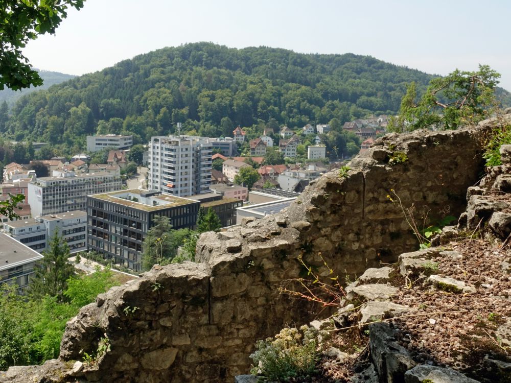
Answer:
<path fill-rule="evenodd" d="M 75 174 L 54 171 L 53 174 L 53 177 L 41 177 L 28 184 L 29 204 L 34 217 L 71 210 L 85 211 L 88 195 L 121 188 L 120 178 L 104 172 Z"/>

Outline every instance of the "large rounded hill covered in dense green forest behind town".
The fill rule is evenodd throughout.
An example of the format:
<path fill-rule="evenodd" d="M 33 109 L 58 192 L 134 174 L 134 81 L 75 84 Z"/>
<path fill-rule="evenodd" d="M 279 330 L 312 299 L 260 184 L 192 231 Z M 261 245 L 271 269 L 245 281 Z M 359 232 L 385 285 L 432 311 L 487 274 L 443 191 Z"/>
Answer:
<path fill-rule="evenodd" d="M 21 98 L 5 135 L 84 147 L 85 135 L 130 133 L 135 142 L 183 132 L 232 135 L 242 127 L 340 124 L 395 113 L 405 84 L 431 75 L 353 54 L 193 43 L 136 56 Z M 2 129 L 2 125 L 0 125 Z M 193 131 L 195 130 L 195 132 Z"/>

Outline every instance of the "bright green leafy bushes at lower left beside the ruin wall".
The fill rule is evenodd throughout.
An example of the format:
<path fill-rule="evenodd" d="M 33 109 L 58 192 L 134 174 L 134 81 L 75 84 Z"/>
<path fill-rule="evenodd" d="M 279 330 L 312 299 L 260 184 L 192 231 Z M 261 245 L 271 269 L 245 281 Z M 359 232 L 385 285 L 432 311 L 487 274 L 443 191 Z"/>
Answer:
<path fill-rule="evenodd" d="M 108 268 L 69 278 L 64 302 L 49 295 L 20 296 L 16 286 L 0 285 L 0 370 L 57 357 L 67 321 L 114 284 Z"/>

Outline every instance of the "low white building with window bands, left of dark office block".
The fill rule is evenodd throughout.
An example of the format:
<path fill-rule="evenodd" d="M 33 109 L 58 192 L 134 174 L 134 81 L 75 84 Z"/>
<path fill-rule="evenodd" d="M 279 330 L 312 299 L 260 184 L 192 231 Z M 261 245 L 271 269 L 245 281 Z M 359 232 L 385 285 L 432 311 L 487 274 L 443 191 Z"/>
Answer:
<path fill-rule="evenodd" d="M 50 249 L 55 232 L 63 237 L 71 253 L 85 250 L 87 214 L 75 210 L 60 214 L 18 220 L 4 224 L 4 231 L 32 250 Z"/>

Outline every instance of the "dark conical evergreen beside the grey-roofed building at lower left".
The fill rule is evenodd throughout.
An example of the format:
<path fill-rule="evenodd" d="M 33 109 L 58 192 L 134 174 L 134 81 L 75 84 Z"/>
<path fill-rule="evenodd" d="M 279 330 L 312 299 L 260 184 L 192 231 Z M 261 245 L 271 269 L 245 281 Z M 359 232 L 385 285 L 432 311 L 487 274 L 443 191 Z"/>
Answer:
<path fill-rule="evenodd" d="M 42 255 L 44 258 L 40 261 L 40 267 L 36 269 L 29 293 L 33 296 L 49 295 L 61 302 L 64 300 L 67 280 L 75 275 L 75 268 L 67 261 L 69 246 L 58 231 L 55 231 L 52 238 L 50 250 L 43 251 Z"/>

